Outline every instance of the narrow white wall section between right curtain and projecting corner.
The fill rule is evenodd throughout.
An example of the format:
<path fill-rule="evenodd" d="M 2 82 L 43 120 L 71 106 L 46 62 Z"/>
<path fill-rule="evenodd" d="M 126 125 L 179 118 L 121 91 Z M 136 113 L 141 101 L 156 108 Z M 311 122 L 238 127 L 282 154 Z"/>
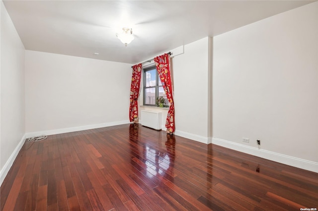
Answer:
<path fill-rule="evenodd" d="M 206 140 L 210 130 L 209 60 L 209 37 L 185 45 L 184 54 L 173 58 L 176 132 Z"/>

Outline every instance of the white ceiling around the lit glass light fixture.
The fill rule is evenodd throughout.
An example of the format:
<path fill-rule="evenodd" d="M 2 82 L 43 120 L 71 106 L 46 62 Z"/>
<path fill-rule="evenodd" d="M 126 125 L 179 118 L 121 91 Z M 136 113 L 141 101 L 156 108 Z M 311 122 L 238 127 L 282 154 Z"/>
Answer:
<path fill-rule="evenodd" d="M 3 0 L 25 49 L 129 64 L 311 2 Z M 127 47 L 115 35 L 124 26 Z"/>

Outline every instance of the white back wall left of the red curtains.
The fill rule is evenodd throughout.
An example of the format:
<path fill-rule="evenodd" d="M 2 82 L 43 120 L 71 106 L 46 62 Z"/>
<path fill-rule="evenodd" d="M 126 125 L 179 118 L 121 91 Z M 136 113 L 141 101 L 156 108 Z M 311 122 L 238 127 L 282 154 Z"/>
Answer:
<path fill-rule="evenodd" d="M 129 123 L 131 64 L 25 53 L 26 132 Z"/>

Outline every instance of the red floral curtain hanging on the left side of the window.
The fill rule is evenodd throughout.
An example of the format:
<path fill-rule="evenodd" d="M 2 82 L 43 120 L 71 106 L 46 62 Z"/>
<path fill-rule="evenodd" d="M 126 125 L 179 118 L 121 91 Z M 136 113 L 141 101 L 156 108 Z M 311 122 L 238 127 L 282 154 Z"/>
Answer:
<path fill-rule="evenodd" d="M 131 77 L 130 87 L 130 106 L 129 106 L 129 120 L 138 124 L 138 97 L 141 81 L 142 64 L 133 66 L 133 75 Z"/>

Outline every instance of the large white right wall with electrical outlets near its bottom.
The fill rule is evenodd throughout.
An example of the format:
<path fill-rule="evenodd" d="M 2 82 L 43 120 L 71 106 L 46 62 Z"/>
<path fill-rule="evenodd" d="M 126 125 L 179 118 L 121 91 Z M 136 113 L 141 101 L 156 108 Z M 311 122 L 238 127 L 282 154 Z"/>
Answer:
<path fill-rule="evenodd" d="M 216 36 L 213 45 L 213 140 L 256 148 L 259 139 L 255 155 L 313 161 L 318 171 L 318 2 Z"/>

